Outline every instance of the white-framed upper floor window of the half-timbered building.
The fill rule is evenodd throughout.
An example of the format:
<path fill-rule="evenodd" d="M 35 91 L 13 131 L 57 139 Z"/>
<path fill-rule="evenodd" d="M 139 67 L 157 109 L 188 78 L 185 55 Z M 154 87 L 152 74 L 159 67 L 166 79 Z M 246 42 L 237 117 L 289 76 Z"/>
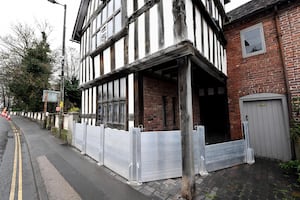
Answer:
<path fill-rule="evenodd" d="M 92 22 L 92 50 L 122 29 L 121 0 L 106 1 L 106 5 Z"/>

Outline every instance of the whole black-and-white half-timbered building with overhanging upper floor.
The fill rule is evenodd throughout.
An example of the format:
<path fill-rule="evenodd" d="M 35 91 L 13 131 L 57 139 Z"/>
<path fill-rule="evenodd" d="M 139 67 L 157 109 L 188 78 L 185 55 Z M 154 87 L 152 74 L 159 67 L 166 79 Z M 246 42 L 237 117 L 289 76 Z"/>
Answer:
<path fill-rule="evenodd" d="M 81 48 L 82 120 L 125 130 L 192 120 L 228 137 L 227 2 L 82 0 L 72 36 Z M 192 115 L 184 119 L 182 109 Z"/>

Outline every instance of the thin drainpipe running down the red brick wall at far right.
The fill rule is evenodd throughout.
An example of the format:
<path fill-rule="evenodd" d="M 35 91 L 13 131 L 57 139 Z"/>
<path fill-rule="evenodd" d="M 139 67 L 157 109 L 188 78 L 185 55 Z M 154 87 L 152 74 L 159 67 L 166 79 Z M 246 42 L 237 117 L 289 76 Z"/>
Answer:
<path fill-rule="evenodd" d="M 282 69 L 283 69 L 283 74 L 284 74 L 284 82 L 285 82 L 285 89 L 286 89 L 286 96 L 287 96 L 287 105 L 288 105 L 288 113 L 289 113 L 289 126 L 292 125 L 293 121 L 293 111 L 292 111 L 292 96 L 291 96 L 291 90 L 289 87 L 289 79 L 288 79 L 288 74 L 287 74 L 287 67 L 284 62 L 285 57 L 284 57 L 284 50 L 283 50 L 283 45 L 282 45 L 282 33 L 280 31 L 280 25 L 279 25 L 279 15 L 278 15 L 278 7 L 275 5 L 274 7 L 274 20 L 276 24 L 276 34 L 277 34 L 277 40 L 279 44 L 279 52 L 280 52 L 280 58 L 282 62 Z M 296 152 L 295 152 L 295 143 L 293 140 L 291 140 L 291 151 L 292 151 L 292 158 L 296 158 Z"/>

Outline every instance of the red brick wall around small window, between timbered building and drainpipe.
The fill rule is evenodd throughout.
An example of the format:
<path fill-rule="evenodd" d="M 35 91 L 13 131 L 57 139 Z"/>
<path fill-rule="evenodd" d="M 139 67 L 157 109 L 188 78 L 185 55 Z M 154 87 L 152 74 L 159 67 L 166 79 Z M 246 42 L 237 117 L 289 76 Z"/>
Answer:
<path fill-rule="evenodd" d="M 242 57 L 240 31 L 257 23 L 263 24 L 266 53 Z M 255 93 L 284 94 L 284 72 L 272 15 L 226 27 L 228 41 L 228 100 L 232 139 L 242 137 L 239 99 Z M 299 74 L 300 75 L 300 74 Z"/>

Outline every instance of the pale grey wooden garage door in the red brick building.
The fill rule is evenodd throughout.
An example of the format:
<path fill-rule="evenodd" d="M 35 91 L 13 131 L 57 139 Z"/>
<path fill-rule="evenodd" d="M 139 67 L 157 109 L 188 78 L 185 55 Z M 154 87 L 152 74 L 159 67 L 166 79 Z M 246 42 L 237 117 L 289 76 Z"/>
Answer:
<path fill-rule="evenodd" d="M 282 99 L 244 101 L 242 106 L 242 118 L 248 119 L 250 146 L 255 155 L 290 160 L 290 137 Z"/>

